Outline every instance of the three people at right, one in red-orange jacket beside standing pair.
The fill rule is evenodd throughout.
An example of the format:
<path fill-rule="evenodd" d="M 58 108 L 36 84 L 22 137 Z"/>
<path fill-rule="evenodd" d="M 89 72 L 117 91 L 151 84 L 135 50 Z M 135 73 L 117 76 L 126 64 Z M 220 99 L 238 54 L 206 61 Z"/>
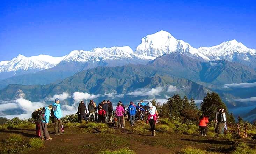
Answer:
<path fill-rule="evenodd" d="M 227 129 L 226 126 L 226 114 L 224 109 L 218 108 L 215 114 L 215 125 L 214 125 L 214 130 L 218 134 L 224 134 L 224 130 Z M 199 122 L 199 128 L 201 129 L 201 136 L 206 136 L 208 132 L 208 127 L 207 123 L 209 123 L 208 116 L 203 113 L 200 116 L 200 122 Z"/>

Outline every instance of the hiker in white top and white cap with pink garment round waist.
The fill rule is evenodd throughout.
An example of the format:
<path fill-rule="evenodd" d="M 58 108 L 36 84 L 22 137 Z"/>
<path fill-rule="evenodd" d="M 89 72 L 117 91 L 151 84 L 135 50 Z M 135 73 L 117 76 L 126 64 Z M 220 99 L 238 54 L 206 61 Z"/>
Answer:
<path fill-rule="evenodd" d="M 152 133 L 152 136 L 155 136 L 155 124 L 156 124 L 156 120 L 159 118 L 158 116 L 158 112 L 156 110 L 156 107 L 152 105 L 152 103 L 148 103 L 148 118 L 147 118 L 147 123 L 149 122 L 150 124 L 150 130 Z"/>

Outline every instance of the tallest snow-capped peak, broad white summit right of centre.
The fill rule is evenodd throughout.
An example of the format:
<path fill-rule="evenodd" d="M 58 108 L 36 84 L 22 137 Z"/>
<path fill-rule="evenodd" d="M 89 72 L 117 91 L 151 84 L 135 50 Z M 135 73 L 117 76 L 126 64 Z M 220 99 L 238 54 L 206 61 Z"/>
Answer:
<path fill-rule="evenodd" d="M 135 51 L 137 55 L 147 56 L 151 59 L 172 52 L 180 52 L 200 60 L 210 60 L 198 49 L 193 48 L 183 40 L 177 40 L 170 33 L 163 30 L 142 38 L 141 44 L 137 46 Z"/>

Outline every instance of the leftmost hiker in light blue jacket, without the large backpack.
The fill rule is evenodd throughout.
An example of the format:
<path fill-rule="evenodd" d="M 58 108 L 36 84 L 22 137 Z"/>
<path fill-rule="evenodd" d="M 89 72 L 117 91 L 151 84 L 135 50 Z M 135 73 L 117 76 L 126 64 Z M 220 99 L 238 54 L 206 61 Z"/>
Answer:
<path fill-rule="evenodd" d="M 49 123 L 49 116 L 52 109 L 52 105 L 46 106 L 44 109 L 44 120 L 40 121 L 40 133 L 41 133 L 41 139 L 44 140 L 52 140 L 48 133 L 48 123 Z"/>

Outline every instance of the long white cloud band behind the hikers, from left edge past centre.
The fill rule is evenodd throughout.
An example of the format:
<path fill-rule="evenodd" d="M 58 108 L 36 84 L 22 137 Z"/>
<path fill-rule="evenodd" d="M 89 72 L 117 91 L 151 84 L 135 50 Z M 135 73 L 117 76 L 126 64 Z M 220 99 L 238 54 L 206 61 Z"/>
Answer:
<path fill-rule="evenodd" d="M 127 93 L 126 95 L 130 96 L 147 96 L 155 98 L 155 96 L 159 96 L 162 92 L 175 92 L 177 91 L 176 86 L 169 85 L 168 87 L 156 87 L 156 88 L 142 88 L 138 90 L 134 90 L 132 92 Z M 6 118 L 14 118 L 19 117 L 21 119 L 23 118 L 31 118 L 31 114 L 33 111 L 35 111 L 38 108 L 48 106 L 47 101 L 53 102 L 55 98 L 59 98 L 61 101 L 61 107 L 63 110 L 63 116 L 68 114 L 75 114 L 77 112 L 78 103 L 80 103 L 81 100 L 85 101 L 85 104 L 88 104 L 90 100 L 96 99 L 98 97 L 106 97 L 106 98 L 123 98 L 125 94 L 117 94 L 116 92 L 111 93 L 104 93 L 104 94 L 89 94 L 89 93 L 83 93 L 83 92 L 74 92 L 72 95 L 63 92 L 61 94 L 55 94 L 53 97 L 47 97 L 44 100 L 40 102 L 31 102 L 29 100 L 26 100 L 24 98 L 19 98 L 16 100 L 11 101 L 0 101 L 0 116 L 6 117 Z M 67 99 L 73 98 L 73 104 L 68 105 Z M 166 99 L 159 99 L 161 103 L 166 102 Z M 8 114 L 6 114 L 8 113 Z M 12 114 L 11 114 L 12 113 Z"/>

